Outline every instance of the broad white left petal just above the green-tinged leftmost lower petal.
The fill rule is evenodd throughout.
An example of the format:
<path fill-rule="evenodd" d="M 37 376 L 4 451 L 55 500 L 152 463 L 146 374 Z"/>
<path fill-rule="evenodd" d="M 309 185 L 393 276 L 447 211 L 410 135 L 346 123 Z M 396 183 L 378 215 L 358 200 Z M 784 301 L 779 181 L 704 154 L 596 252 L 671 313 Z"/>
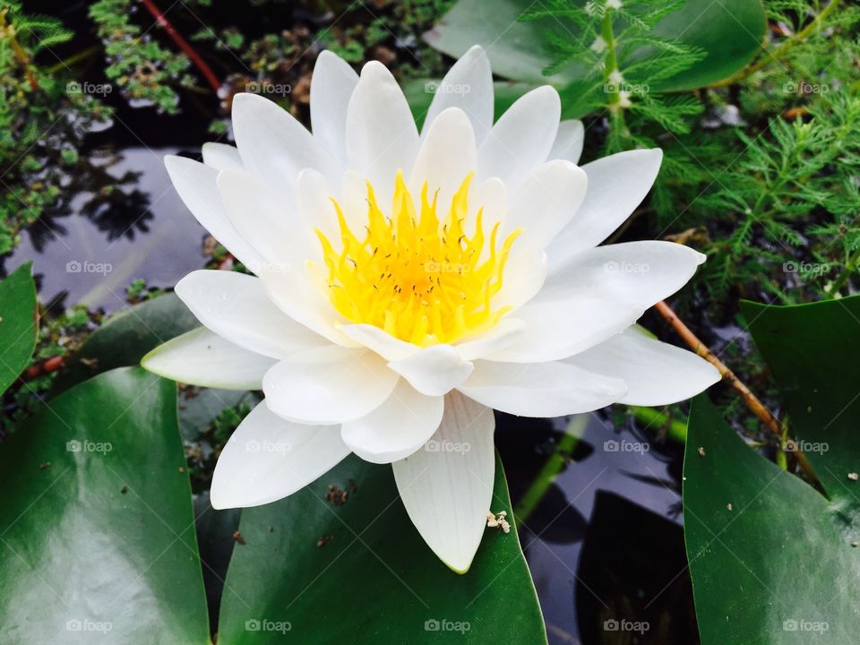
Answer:
<path fill-rule="evenodd" d="M 253 276 L 192 271 L 176 284 L 176 295 L 211 331 L 263 356 L 284 358 L 328 344 L 281 312 Z"/>

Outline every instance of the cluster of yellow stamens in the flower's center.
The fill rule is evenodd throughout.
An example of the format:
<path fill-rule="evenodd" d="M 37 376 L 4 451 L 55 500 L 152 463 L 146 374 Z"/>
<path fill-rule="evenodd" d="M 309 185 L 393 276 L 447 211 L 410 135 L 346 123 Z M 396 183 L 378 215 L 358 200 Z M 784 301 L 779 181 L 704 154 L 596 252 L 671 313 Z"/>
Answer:
<path fill-rule="evenodd" d="M 451 343 L 489 329 L 510 311 L 496 306 L 504 265 L 521 229 L 502 242 L 499 223 L 484 233 L 484 209 L 474 230 L 464 230 L 469 214 L 467 176 L 451 207 L 440 219 L 438 193 L 433 202 L 427 184 L 421 189 L 420 216 L 398 172 L 391 217 L 380 210 L 367 183 L 367 224 L 352 231 L 340 204 L 332 198 L 340 224 L 340 245 L 322 231 L 331 304 L 353 323 L 366 323 L 421 347 Z M 468 227 L 471 228 L 471 227 Z"/>

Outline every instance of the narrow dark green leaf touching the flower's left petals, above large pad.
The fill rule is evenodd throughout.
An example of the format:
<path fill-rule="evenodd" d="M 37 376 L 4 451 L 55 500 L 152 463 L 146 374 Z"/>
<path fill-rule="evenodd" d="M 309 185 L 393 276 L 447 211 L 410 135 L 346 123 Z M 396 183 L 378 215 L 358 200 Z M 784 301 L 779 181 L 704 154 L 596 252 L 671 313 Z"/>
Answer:
<path fill-rule="evenodd" d="M 137 365 L 150 349 L 200 323 L 176 294 L 125 308 L 93 331 L 59 374 L 52 395 L 115 367 Z"/>

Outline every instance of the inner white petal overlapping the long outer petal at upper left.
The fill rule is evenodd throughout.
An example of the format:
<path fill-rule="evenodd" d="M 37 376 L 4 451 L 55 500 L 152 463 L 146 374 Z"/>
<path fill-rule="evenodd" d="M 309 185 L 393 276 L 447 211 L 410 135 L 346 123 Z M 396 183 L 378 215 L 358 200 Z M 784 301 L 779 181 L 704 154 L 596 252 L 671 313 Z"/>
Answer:
<path fill-rule="evenodd" d="M 267 261 L 249 267 L 257 275 L 263 272 L 296 271 L 307 258 L 319 253 L 312 245 L 311 230 L 292 209 L 285 208 L 278 193 L 244 170 L 222 170 L 218 190 L 224 210 L 236 230 Z"/>

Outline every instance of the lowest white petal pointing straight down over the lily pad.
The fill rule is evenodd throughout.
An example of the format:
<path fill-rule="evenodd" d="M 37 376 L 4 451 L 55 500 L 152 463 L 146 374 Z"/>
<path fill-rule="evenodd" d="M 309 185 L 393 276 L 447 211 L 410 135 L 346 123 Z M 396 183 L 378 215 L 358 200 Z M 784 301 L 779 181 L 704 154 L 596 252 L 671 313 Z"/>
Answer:
<path fill-rule="evenodd" d="M 469 571 L 493 501 L 494 430 L 493 410 L 455 391 L 445 397 L 442 424 L 427 446 L 438 450 L 420 450 L 392 464 L 409 519 L 458 573 Z"/>

